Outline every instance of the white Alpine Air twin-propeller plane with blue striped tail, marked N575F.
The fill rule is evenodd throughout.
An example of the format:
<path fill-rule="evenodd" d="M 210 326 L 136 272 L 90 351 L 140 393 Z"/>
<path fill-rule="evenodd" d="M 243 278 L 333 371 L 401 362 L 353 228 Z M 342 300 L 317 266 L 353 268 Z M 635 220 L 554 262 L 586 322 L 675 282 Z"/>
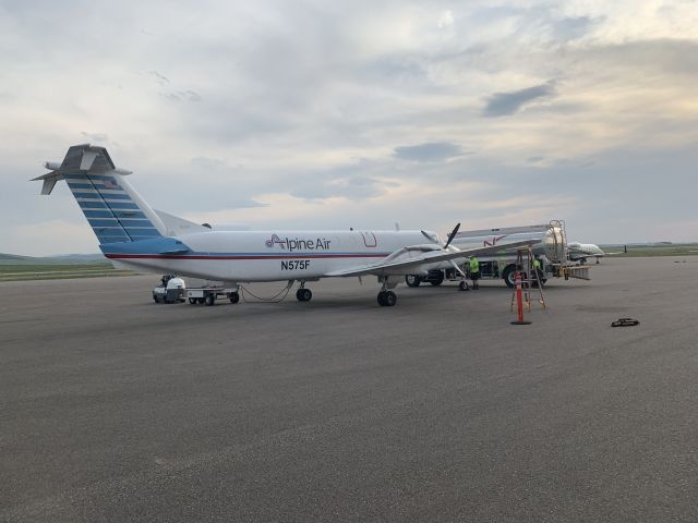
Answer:
<path fill-rule="evenodd" d="M 428 231 L 216 231 L 152 208 L 117 168 L 104 147 L 89 144 L 68 149 L 62 162 L 46 162 L 50 172 L 35 178 L 50 194 L 65 180 L 99 240 L 99 248 L 117 267 L 222 281 L 238 297 L 239 284 L 299 282 L 296 294 L 310 301 L 309 281 L 321 278 L 376 276 L 377 301 L 393 306 L 392 290 L 405 275 L 458 267 L 467 257 L 530 241 L 459 250 L 450 245 L 458 226 L 443 243 Z M 237 301 L 237 300 L 236 300 Z"/>

